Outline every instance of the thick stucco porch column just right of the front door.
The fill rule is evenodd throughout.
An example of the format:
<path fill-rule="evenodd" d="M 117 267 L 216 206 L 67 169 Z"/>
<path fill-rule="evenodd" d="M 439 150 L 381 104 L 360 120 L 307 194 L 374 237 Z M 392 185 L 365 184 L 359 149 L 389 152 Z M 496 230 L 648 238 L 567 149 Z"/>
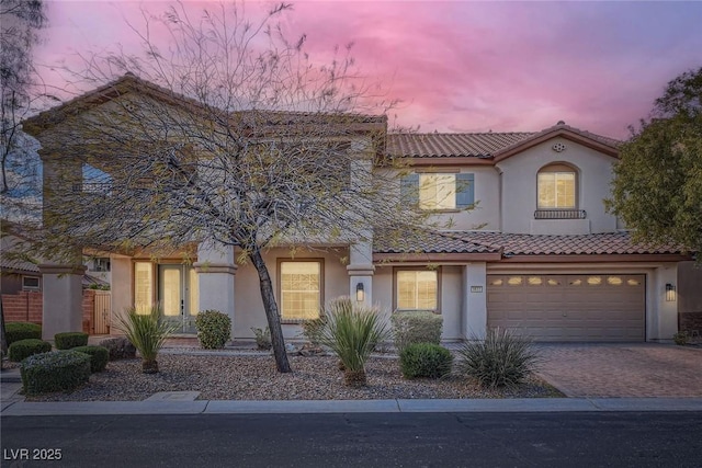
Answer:
<path fill-rule="evenodd" d="M 234 336 L 234 277 L 237 265 L 230 246 L 202 242 L 197 246 L 199 310 L 218 310 L 231 319 Z"/>

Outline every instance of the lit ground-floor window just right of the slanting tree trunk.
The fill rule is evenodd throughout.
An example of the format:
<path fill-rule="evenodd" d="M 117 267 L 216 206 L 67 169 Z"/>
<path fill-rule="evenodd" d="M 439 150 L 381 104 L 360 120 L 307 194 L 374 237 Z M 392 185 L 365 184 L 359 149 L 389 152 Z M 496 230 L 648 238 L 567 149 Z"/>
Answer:
<path fill-rule="evenodd" d="M 322 304 L 320 261 L 279 262 L 281 319 L 301 321 L 319 317 Z"/>

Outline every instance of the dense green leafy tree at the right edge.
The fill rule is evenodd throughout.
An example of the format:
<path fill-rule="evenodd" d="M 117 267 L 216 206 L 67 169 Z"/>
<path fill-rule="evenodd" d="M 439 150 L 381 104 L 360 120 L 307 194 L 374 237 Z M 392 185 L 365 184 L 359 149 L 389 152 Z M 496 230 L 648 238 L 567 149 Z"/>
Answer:
<path fill-rule="evenodd" d="M 632 128 L 605 204 L 638 239 L 702 252 L 702 68 L 670 81 Z"/>

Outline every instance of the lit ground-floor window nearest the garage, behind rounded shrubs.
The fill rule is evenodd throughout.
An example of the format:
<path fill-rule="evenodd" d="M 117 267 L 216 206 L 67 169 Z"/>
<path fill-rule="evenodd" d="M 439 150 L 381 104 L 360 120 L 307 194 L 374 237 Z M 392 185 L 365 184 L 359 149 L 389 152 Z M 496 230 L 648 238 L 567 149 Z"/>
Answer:
<path fill-rule="evenodd" d="M 399 270 L 395 278 L 398 310 L 439 309 L 439 278 L 435 271 Z"/>

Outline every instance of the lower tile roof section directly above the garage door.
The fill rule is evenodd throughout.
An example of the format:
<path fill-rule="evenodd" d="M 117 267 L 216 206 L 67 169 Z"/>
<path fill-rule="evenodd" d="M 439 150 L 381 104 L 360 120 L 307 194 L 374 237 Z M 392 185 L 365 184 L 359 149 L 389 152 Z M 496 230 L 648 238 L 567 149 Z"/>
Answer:
<path fill-rule="evenodd" d="M 485 246 L 499 246 L 510 255 L 596 255 L 681 253 L 673 244 L 649 246 L 634 242 L 630 232 L 581 236 L 517 235 L 500 232 L 453 232 L 460 239 Z"/>

